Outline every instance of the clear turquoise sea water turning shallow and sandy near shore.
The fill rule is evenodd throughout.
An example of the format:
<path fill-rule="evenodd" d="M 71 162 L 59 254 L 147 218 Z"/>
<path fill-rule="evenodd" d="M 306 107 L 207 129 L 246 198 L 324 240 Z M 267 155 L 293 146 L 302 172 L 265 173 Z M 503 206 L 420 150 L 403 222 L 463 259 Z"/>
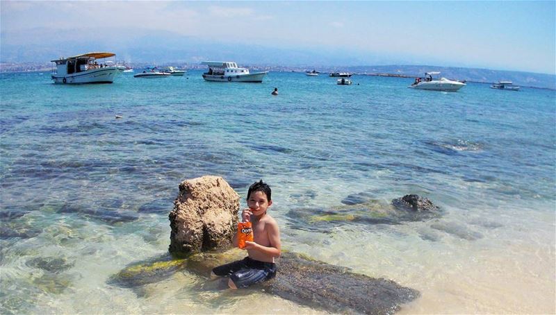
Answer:
<path fill-rule="evenodd" d="M 0 314 L 325 313 L 256 290 L 203 291 L 206 278 L 186 271 L 139 290 L 110 281 L 167 253 L 178 185 L 204 175 L 227 180 L 242 207 L 252 182 L 268 182 L 282 247 L 420 291 L 400 314 L 554 314 L 556 92 L 352 80 L 0 74 Z M 406 194 L 441 216 L 300 215 Z"/>

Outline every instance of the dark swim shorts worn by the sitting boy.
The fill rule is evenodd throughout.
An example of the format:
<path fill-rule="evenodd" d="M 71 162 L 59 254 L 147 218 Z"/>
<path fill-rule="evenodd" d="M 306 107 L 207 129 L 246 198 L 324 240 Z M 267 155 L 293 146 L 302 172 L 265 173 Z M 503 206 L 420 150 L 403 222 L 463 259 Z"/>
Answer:
<path fill-rule="evenodd" d="M 229 276 L 238 288 L 246 288 L 251 284 L 270 280 L 275 277 L 276 271 L 275 263 L 260 262 L 250 257 L 213 269 L 215 275 Z"/>

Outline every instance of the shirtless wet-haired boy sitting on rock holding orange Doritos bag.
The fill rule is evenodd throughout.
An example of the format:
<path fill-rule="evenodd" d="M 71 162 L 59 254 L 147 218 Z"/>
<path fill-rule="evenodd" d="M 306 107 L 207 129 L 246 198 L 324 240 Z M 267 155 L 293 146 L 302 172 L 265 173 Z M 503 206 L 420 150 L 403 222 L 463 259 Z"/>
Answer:
<path fill-rule="evenodd" d="M 263 180 L 255 182 L 247 191 L 247 206 L 241 212 L 243 222 L 251 222 L 253 241 L 245 241 L 248 257 L 213 269 L 211 275 L 227 276 L 231 289 L 246 288 L 257 282 L 270 280 L 276 275 L 275 257 L 280 256 L 280 231 L 272 216 L 266 213 L 272 205 L 270 187 Z M 238 246 L 238 232 L 234 235 Z"/>

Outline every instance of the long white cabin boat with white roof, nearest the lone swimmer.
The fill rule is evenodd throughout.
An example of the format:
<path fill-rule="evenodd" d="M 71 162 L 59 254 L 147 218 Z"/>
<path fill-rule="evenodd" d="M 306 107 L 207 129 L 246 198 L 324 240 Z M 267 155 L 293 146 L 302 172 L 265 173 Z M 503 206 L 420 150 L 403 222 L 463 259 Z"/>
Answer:
<path fill-rule="evenodd" d="M 203 74 L 207 81 L 261 83 L 268 74 L 268 71 L 250 73 L 249 69 L 238 67 L 236 62 L 203 61 L 201 64 L 208 66 L 208 71 Z"/>

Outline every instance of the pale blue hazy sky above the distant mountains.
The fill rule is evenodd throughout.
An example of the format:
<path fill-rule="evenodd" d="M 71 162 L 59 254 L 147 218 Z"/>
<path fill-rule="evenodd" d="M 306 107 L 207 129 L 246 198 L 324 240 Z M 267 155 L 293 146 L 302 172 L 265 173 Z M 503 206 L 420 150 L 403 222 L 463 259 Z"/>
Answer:
<path fill-rule="evenodd" d="M 41 29 L 85 35 L 109 28 L 111 37 L 170 31 L 215 43 L 345 49 L 375 56 L 369 62 L 555 74 L 555 3 L 2 0 L 0 31 L 3 41 L 20 44 L 34 39 L 17 34 Z"/>

